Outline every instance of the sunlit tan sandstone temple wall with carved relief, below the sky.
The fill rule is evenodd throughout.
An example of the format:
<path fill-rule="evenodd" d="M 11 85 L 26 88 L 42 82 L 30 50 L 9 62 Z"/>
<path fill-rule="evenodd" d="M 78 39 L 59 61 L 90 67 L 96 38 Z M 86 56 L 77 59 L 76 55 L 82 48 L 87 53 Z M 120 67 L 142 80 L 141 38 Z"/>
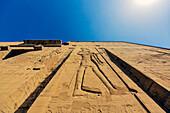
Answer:
<path fill-rule="evenodd" d="M 110 59 L 105 49 L 165 88 L 168 92 L 155 85 L 146 87 L 151 91 L 156 88 L 168 109 L 169 50 L 120 42 L 70 42 L 0 61 L 1 112 L 166 112 Z M 157 65 L 163 69 L 158 70 Z M 43 85 L 43 81 L 48 83 Z M 35 89 L 40 93 L 30 97 Z"/>

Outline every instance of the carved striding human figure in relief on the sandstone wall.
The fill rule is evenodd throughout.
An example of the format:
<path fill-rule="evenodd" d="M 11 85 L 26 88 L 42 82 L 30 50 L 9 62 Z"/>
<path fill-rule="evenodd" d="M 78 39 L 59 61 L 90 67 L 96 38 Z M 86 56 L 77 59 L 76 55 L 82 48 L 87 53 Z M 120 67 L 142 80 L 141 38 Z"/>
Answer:
<path fill-rule="evenodd" d="M 98 93 L 98 94 L 102 93 L 99 88 L 94 88 L 93 86 L 91 87 L 84 86 L 82 84 L 83 76 L 86 76 L 85 71 L 87 68 L 91 68 L 92 71 L 95 73 L 95 75 L 107 87 L 110 94 L 114 94 L 115 89 L 112 87 L 112 85 L 109 83 L 109 81 L 100 71 L 100 65 L 102 65 L 103 62 L 100 61 L 100 59 L 97 57 L 97 54 L 90 52 L 90 50 L 87 48 L 81 48 L 81 51 L 78 52 L 78 55 L 82 56 L 82 61 L 80 64 L 80 68 L 77 71 L 76 84 L 75 84 L 75 90 L 74 90 L 73 96 L 83 96 L 85 94 L 84 91 Z"/>

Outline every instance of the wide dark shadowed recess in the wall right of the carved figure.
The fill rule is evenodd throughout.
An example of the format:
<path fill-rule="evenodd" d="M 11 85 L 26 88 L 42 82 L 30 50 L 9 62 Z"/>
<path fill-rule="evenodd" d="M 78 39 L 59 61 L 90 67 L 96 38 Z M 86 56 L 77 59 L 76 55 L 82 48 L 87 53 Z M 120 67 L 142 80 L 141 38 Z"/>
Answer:
<path fill-rule="evenodd" d="M 107 49 L 110 60 L 115 63 L 129 78 L 131 78 L 145 93 L 148 94 L 162 109 L 169 113 L 169 91 L 154 80 L 132 67 Z"/>

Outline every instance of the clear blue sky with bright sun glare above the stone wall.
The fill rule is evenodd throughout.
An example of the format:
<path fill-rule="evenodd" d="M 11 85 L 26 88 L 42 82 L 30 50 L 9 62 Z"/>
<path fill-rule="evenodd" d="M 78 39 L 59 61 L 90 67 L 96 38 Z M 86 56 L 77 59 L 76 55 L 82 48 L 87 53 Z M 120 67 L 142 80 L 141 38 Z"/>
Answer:
<path fill-rule="evenodd" d="M 0 0 L 0 41 L 24 39 L 170 48 L 170 0 Z"/>

